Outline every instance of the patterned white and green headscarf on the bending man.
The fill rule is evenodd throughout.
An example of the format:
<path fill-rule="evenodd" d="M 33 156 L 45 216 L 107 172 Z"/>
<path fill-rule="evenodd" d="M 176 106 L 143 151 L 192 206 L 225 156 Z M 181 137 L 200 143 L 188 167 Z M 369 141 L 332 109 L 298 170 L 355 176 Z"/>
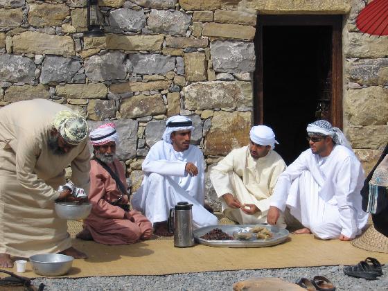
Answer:
<path fill-rule="evenodd" d="M 53 127 L 58 130 L 64 141 L 78 145 L 87 138 L 87 122 L 80 114 L 71 110 L 62 110 L 55 114 Z"/>

